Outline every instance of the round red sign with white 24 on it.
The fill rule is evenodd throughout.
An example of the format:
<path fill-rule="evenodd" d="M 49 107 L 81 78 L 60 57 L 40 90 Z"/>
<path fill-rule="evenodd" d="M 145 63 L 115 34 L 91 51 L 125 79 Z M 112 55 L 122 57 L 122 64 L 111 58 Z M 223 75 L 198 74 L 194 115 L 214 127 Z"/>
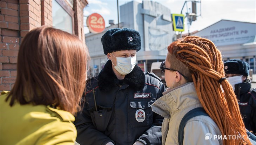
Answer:
<path fill-rule="evenodd" d="M 97 13 L 89 15 L 86 24 L 92 33 L 101 33 L 105 29 L 105 21 L 103 17 Z"/>

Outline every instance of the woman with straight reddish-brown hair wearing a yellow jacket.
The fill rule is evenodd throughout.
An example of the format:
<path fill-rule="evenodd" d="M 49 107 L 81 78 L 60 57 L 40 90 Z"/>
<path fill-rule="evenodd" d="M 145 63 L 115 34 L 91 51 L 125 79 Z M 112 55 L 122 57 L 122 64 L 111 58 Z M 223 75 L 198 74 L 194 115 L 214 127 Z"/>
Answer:
<path fill-rule="evenodd" d="M 74 144 L 87 55 L 77 36 L 59 29 L 24 37 L 14 87 L 0 96 L 0 144 Z"/>

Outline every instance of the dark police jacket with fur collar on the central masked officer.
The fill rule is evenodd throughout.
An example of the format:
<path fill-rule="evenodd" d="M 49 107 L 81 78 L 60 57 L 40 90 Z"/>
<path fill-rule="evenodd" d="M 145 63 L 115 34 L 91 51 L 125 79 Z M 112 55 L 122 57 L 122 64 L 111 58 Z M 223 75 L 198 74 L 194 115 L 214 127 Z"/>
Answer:
<path fill-rule="evenodd" d="M 85 105 L 74 122 L 81 145 L 162 145 L 163 118 L 151 110 L 164 85 L 138 65 L 120 84 L 109 60 L 99 76 L 88 79 Z"/>

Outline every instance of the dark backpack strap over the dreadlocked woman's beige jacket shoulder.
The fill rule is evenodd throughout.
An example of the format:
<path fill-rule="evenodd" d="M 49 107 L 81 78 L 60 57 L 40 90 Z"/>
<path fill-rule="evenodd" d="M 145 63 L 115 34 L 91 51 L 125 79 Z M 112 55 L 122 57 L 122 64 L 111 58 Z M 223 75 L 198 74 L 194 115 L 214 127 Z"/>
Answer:
<path fill-rule="evenodd" d="M 184 127 L 186 123 L 188 122 L 189 119 L 196 117 L 196 116 L 209 116 L 206 111 L 202 107 L 195 108 L 190 110 L 184 117 L 181 119 L 180 126 L 178 127 L 178 144 L 182 145 L 183 144 L 183 138 L 184 138 Z"/>

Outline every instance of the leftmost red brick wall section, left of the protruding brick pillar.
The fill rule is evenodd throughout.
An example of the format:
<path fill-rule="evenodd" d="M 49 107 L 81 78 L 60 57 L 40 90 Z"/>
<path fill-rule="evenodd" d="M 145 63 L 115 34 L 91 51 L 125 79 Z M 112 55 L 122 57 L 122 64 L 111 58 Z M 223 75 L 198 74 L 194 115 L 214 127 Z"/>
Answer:
<path fill-rule="evenodd" d="M 0 1 L 0 91 L 10 90 L 16 78 L 20 45 L 19 0 Z"/>

